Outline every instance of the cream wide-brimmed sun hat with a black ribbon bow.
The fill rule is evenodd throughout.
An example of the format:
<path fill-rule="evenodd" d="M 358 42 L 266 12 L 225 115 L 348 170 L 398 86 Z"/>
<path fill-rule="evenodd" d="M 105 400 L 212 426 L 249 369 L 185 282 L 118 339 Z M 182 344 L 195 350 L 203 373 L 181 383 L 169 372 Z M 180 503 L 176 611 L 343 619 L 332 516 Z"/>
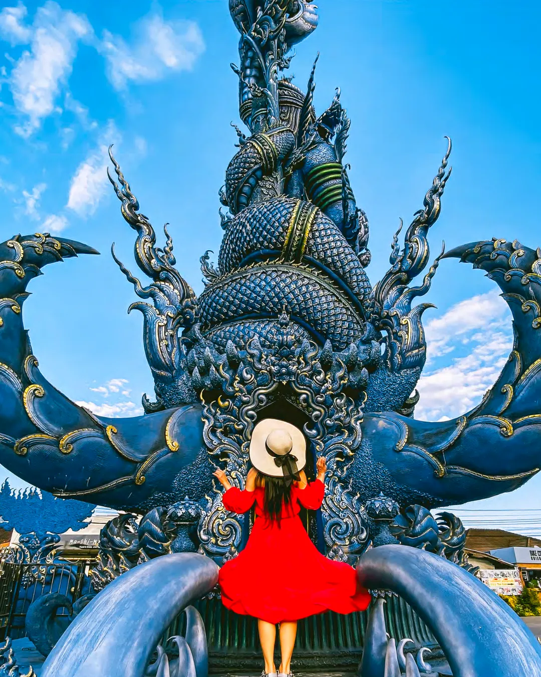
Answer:
<path fill-rule="evenodd" d="M 306 439 L 291 423 L 264 418 L 252 433 L 250 461 L 263 475 L 285 477 L 291 483 L 306 465 Z"/>

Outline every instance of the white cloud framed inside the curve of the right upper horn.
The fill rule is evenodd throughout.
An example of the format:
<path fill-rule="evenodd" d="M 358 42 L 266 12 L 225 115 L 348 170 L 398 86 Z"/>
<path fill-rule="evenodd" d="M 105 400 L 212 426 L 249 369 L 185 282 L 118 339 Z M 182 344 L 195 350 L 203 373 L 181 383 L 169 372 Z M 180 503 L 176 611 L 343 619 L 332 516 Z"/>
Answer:
<path fill-rule="evenodd" d="M 489 292 L 457 303 L 426 329 L 434 356 L 471 348 L 468 355 L 423 374 L 417 384 L 421 399 L 415 418 L 448 420 L 476 406 L 498 379 L 513 346 L 511 314 L 498 293 Z"/>

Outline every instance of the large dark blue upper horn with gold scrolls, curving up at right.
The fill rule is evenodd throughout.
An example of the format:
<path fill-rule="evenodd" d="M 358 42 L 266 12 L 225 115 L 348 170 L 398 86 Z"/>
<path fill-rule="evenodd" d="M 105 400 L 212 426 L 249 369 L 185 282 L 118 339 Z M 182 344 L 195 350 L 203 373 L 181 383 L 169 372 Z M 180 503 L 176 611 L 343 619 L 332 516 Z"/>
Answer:
<path fill-rule="evenodd" d="M 394 412 L 368 414 L 364 437 L 377 445 L 400 481 L 415 468 L 416 488 L 451 505 L 509 492 L 541 468 L 541 248 L 515 242 L 472 242 L 450 250 L 485 270 L 513 314 L 515 343 L 483 401 L 448 421 L 426 422 Z M 389 453 L 389 450 L 392 450 Z"/>

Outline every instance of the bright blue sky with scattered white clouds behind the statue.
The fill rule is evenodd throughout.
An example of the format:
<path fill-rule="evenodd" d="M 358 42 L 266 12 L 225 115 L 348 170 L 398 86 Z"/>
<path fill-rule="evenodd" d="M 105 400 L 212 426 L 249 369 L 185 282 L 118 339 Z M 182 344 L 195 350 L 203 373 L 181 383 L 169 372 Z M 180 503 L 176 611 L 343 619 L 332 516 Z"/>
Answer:
<path fill-rule="evenodd" d="M 321 0 L 320 26 L 291 72 L 306 83 L 317 51 L 319 110 L 342 87 L 347 161 L 371 223 L 375 282 L 399 217 L 422 205 L 452 137 L 453 175 L 433 252 L 477 239 L 541 244 L 532 209 L 541 172 L 541 7 L 470 0 Z M 226 0 L 162 5 L 78 0 L 2 5 L 0 240 L 50 230 L 100 257 L 49 266 L 32 284 L 26 326 L 44 374 L 97 412 L 140 410 L 152 382 L 135 300 L 110 257 L 133 267 L 133 232 L 105 179 L 114 152 L 156 230 L 166 221 L 196 291 L 199 257 L 218 251 L 218 188 L 239 123 L 237 32 Z M 527 20 L 525 20 L 527 17 Z M 418 415 L 473 406 L 509 353 L 511 324 L 479 271 L 444 261 L 425 315 L 429 362 Z M 461 304 L 461 305 L 459 305 Z M 541 479 L 482 506 L 534 508 Z"/>

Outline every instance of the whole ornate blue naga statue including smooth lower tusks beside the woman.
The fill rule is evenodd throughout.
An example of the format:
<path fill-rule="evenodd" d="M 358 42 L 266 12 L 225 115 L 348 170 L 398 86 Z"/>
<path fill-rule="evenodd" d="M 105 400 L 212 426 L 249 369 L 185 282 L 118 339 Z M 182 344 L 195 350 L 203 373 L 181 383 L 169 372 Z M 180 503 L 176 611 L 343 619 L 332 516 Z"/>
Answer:
<path fill-rule="evenodd" d="M 359 580 L 379 597 L 368 626 L 360 614 L 329 617 L 328 626 L 315 617 L 302 621 L 298 655 L 305 668 L 358 663 L 364 644 L 363 677 L 383 670 L 433 675 L 423 647 L 439 642 L 455 675 L 541 675 L 533 636 L 468 573 L 460 520 L 430 512 L 512 491 L 540 470 L 541 248 L 471 242 L 442 250 L 429 265 L 429 232 L 450 177 L 448 139 L 421 209 L 402 241 L 400 229 L 395 234 L 390 267 L 371 284 L 369 223 L 344 162 L 350 118 L 340 91 L 318 115 L 316 64 L 305 89 L 286 74 L 291 49 L 318 24 L 316 6 L 229 0 L 229 10 L 240 34 L 233 70 L 248 131 L 235 127 L 238 150 L 219 191 L 224 236 L 216 265 L 208 251 L 201 257 L 199 297 L 176 267 L 167 229 L 159 246 L 110 151 L 109 178 L 137 235 L 135 261 L 146 278 L 112 251 L 139 297 L 129 310 L 143 314 L 155 391 L 143 396 L 143 416 L 105 418 L 70 401 L 42 376 L 24 329 L 28 283 L 41 269 L 97 251 L 47 233 L 0 244 L 0 462 L 54 496 L 132 513 L 102 530 L 91 576 L 95 589 L 104 589 L 64 633 L 45 674 L 206 677 L 206 668 L 197 667 L 206 660 L 204 627 L 212 628 L 220 668 L 248 666 L 242 656 L 255 626 L 228 615 L 214 585 L 216 564 L 243 548 L 252 517 L 225 510 L 212 470 L 225 468 L 243 488 L 254 426 L 279 418 L 304 431 L 309 479 L 316 456 L 327 460 L 321 510 L 303 516 L 310 537 L 327 556 L 358 563 Z M 426 359 L 423 313 L 431 304 L 414 302 L 427 294 L 444 258 L 471 263 L 498 284 L 513 314 L 515 342 L 478 406 L 453 420 L 426 422 L 414 418 L 415 386 Z M 462 596 L 454 596 L 458 588 Z M 385 590 L 399 594 L 398 601 Z M 404 656 L 409 638 L 394 634 L 387 642 L 385 596 L 392 628 L 413 628 L 406 632 L 418 640 L 417 664 Z M 183 637 L 170 622 L 192 602 L 197 611 L 189 611 Z M 487 610 L 489 630 L 481 638 Z M 460 641 L 450 645 L 457 628 Z M 169 636 L 177 646 L 174 670 L 168 647 L 158 644 Z M 316 659 L 314 642 L 323 647 Z M 9 642 L 1 651 L 12 666 Z M 475 669 L 460 671 L 472 661 Z"/>

